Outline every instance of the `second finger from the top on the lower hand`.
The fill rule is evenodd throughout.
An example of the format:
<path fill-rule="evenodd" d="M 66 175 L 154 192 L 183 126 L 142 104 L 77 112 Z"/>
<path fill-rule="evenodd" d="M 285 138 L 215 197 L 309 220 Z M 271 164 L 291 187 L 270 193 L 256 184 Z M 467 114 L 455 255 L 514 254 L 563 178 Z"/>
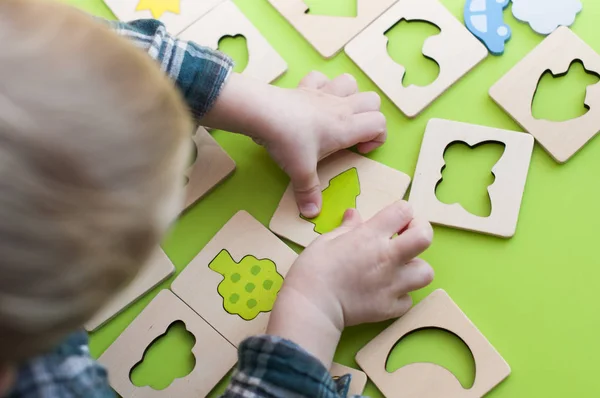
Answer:
<path fill-rule="evenodd" d="M 433 228 L 423 219 L 413 219 L 400 235 L 392 239 L 391 249 L 395 261 L 405 263 L 423 253 L 433 241 Z"/>

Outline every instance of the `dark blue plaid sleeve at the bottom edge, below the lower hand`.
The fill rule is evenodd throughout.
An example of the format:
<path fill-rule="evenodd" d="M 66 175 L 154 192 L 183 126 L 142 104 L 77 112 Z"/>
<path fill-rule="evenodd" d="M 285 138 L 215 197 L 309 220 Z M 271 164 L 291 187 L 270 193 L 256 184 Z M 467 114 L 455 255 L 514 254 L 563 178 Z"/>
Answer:
<path fill-rule="evenodd" d="M 291 341 L 246 339 L 224 398 L 346 398 L 351 376 L 334 380 L 325 366 Z"/>

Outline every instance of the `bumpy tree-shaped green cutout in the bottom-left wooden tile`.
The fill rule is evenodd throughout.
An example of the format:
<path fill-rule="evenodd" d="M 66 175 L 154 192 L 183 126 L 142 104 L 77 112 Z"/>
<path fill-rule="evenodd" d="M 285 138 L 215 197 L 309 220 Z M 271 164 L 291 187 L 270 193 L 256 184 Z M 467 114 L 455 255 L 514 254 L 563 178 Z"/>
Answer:
<path fill-rule="evenodd" d="M 131 382 L 138 387 L 164 390 L 194 370 L 196 357 L 192 349 L 195 344 L 196 338 L 183 322 L 172 323 L 146 348 L 141 361 L 131 369 Z"/>

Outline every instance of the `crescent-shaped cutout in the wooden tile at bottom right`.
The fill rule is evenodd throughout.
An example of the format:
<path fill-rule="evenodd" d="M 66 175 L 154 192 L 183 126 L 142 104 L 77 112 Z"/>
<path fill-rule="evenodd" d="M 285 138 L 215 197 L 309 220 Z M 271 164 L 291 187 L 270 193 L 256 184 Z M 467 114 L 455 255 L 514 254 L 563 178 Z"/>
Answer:
<path fill-rule="evenodd" d="M 475 382 L 475 359 L 465 342 L 444 329 L 417 329 L 396 343 L 385 368 L 389 373 L 412 364 L 434 363 L 452 373 L 465 389 Z"/>

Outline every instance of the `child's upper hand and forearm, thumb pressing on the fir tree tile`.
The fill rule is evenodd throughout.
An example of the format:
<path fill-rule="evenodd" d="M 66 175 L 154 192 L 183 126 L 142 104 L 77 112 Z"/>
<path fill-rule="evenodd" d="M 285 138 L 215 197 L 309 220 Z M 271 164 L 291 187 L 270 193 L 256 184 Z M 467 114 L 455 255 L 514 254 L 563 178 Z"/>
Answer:
<path fill-rule="evenodd" d="M 312 72 L 297 89 L 234 74 L 203 122 L 244 132 L 265 146 L 290 176 L 301 213 L 316 217 L 322 204 L 317 163 L 354 145 L 362 153 L 381 146 L 387 133 L 380 105 L 378 94 L 359 93 L 348 74 L 329 80 Z"/>

